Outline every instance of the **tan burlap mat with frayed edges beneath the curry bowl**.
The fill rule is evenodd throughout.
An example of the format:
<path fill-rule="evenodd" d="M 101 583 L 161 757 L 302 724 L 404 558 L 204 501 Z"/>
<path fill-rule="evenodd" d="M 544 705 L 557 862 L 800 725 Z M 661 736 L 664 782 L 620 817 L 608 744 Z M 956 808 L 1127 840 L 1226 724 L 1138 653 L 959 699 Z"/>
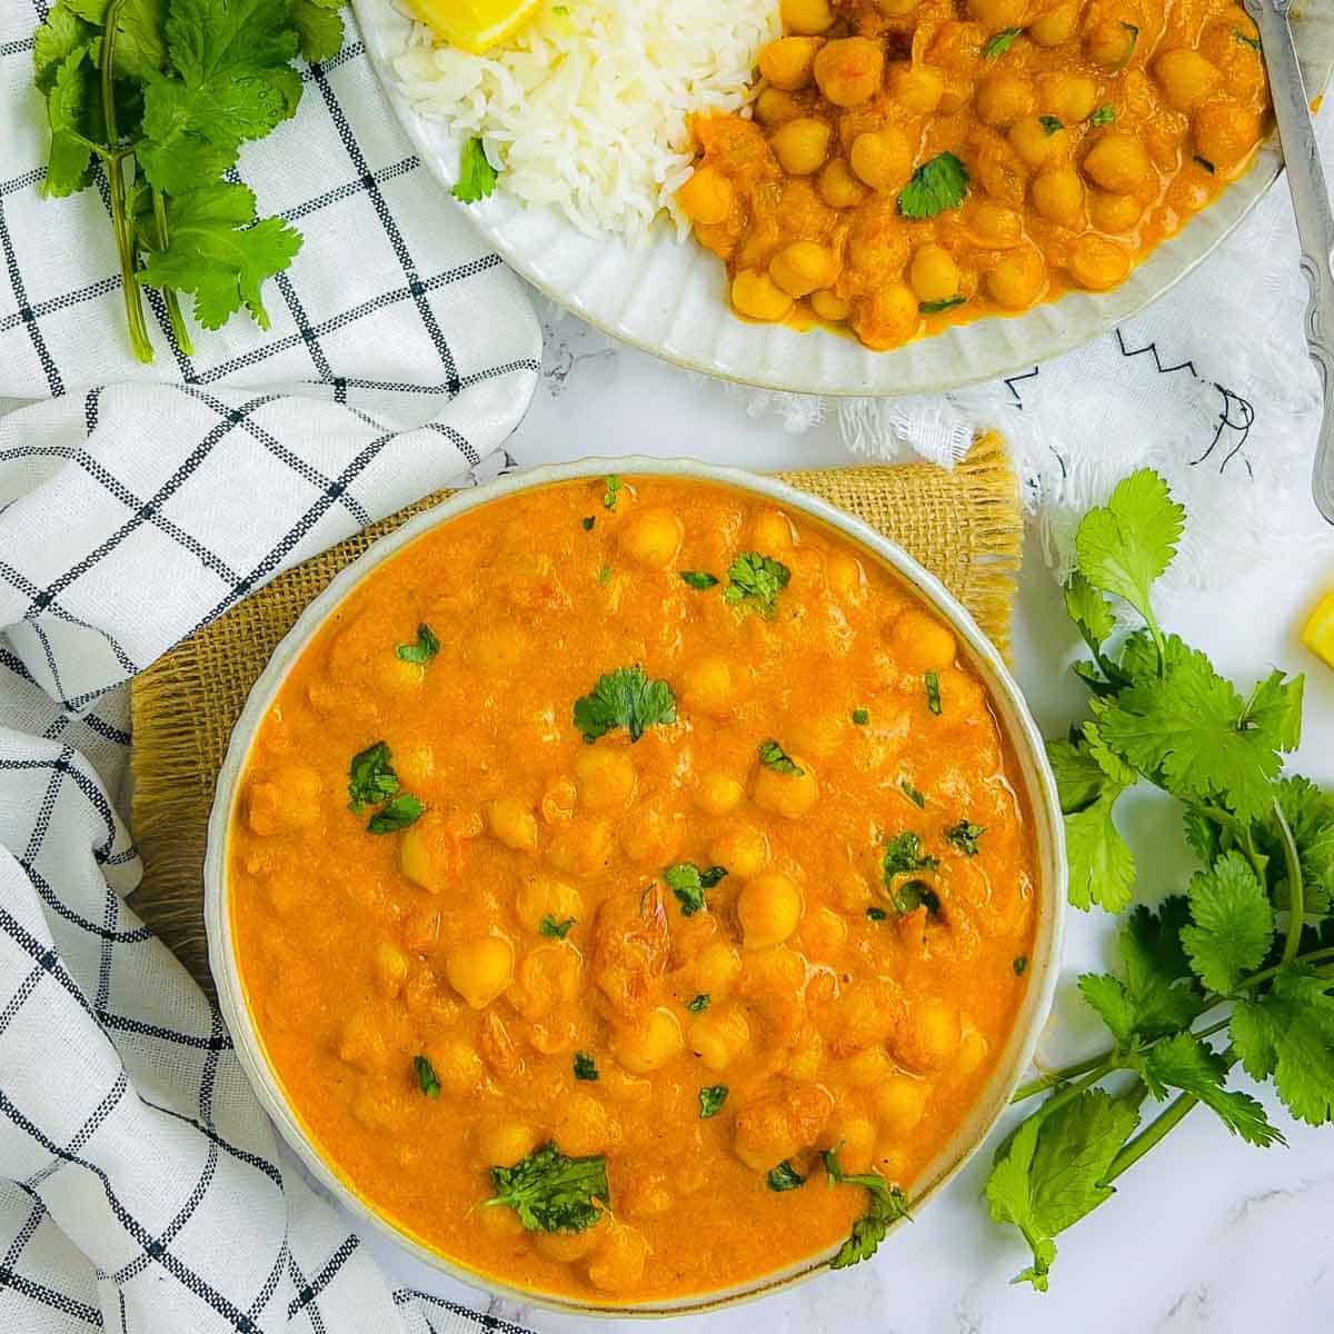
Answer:
<path fill-rule="evenodd" d="M 1007 652 L 1022 524 L 999 436 L 982 436 L 952 472 L 922 463 L 779 476 L 896 540 Z M 208 990 L 204 840 L 213 782 L 245 696 L 301 608 L 339 570 L 451 494 L 430 495 L 280 575 L 133 683 L 132 819 L 144 879 L 131 903 Z"/>

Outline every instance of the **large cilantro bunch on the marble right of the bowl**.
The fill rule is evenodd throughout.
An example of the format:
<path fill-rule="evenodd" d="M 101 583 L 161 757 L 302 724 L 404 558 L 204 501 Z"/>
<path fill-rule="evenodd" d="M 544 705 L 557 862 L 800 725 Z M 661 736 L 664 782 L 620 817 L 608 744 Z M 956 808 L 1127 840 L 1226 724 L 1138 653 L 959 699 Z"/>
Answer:
<path fill-rule="evenodd" d="M 1129 904 L 1135 862 L 1113 811 L 1139 783 L 1181 803 L 1199 868 L 1185 892 L 1129 914 L 1119 972 L 1079 979 L 1106 1050 L 1015 1095 L 1047 1098 L 996 1151 L 986 1194 L 1033 1251 L 1017 1282 L 1042 1291 L 1055 1237 L 1198 1105 L 1247 1143 L 1283 1142 L 1263 1106 L 1229 1087 L 1238 1065 L 1299 1121 L 1334 1121 L 1334 794 L 1283 776 L 1301 678 L 1274 671 L 1242 695 L 1159 626 L 1151 586 L 1183 520 L 1161 476 L 1133 474 L 1081 523 L 1066 586 L 1093 654 L 1075 667 L 1093 716 L 1049 746 L 1070 899 Z M 1137 614 L 1127 635 L 1109 596 Z"/>

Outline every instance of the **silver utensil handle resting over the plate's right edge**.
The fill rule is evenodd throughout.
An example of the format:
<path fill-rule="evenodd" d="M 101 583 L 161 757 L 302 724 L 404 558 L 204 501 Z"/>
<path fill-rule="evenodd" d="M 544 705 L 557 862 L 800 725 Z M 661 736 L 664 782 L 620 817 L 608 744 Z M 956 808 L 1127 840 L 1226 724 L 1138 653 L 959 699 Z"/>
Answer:
<path fill-rule="evenodd" d="M 1283 145 L 1287 188 L 1297 215 L 1297 239 L 1302 247 L 1302 272 L 1310 289 L 1306 304 L 1306 348 L 1321 372 L 1325 415 L 1315 446 L 1311 490 L 1315 508 L 1334 523 L 1334 212 L 1325 188 L 1325 169 L 1315 147 L 1310 101 L 1297 61 L 1293 29 L 1287 21 L 1291 0 L 1243 0 L 1259 28 L 1270 97 Z"/>

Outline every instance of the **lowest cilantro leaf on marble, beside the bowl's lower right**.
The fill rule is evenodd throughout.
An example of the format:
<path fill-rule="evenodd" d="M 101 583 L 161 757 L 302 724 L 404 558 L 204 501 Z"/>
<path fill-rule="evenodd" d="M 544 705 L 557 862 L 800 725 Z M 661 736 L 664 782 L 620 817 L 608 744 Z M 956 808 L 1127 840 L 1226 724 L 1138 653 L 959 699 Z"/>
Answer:
<path fill-rule="evenodd" d="M 1013 1282 L 1047 1290 L 1057 1258 L 1054 1238 L 1114 1191 L 1103 1179 L 1139 1125 L 1139 1113 L 1101 1089 L 1041 1109 L 996 1150 L 987 1203 L 998 1223 L 1014 1223 L 1033 1250 L 1033 1265 Z"/>

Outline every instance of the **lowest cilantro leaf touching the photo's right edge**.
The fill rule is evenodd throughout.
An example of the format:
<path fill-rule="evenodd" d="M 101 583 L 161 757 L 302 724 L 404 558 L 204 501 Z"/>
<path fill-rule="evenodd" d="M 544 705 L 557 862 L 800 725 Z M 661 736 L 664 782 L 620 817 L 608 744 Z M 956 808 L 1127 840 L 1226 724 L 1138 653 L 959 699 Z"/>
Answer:
<path fill-rule="evenodd" d="M 1258 1000 L 1233 1010 L 1230 1035 L 1253 1079 L 1274 1077 L 1287 1110 L 1313 1126 L 1334 1121 L 1334 978 L 1285 968 Z"/>

